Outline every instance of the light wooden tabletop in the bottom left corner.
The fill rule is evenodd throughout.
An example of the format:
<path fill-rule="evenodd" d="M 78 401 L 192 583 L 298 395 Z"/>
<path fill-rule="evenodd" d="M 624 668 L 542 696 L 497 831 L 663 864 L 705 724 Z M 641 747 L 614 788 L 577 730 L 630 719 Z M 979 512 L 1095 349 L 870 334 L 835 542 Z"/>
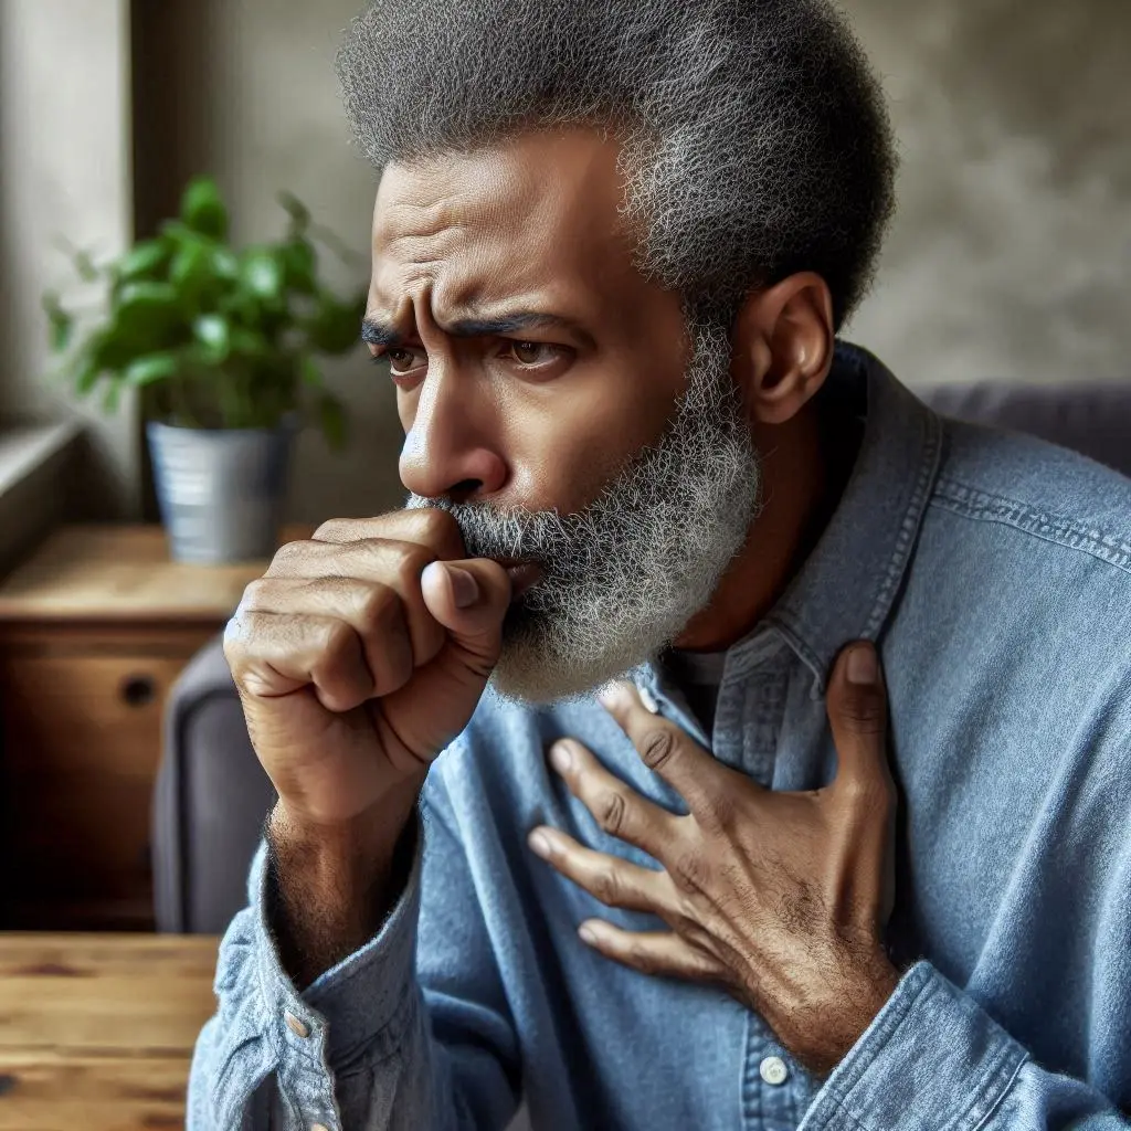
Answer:
<path fill-rule="evenodd" d="M 0 1131 L 184 1126 L 210 936 L 0 934 Z"/>

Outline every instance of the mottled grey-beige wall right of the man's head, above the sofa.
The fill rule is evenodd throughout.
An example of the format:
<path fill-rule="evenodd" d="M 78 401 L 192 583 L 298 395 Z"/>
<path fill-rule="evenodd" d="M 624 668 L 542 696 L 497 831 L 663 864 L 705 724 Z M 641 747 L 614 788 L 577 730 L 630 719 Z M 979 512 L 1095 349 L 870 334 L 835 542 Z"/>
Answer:
<path fill-rule="evenodd" d="M 910 382 L 1131 380 L 1131 5 L 845 5 L 903 149 L 852 335 Z"/>

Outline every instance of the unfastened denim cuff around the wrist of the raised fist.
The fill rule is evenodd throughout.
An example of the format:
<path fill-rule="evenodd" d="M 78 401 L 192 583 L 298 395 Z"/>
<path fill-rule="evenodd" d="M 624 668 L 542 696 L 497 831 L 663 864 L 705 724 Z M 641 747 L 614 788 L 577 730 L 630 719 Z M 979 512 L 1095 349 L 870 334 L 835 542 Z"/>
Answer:
<path fill-rule="evenodd" d="M 348 1071 L 362 1056 L 382 1059 L 399 1044 L 415 1002 L 423 852 L 417 814 L 408 879 L 380 930 L 300 994 L 283 969 L 268 923 L 267 844 L 260 844 L 248 882 L 252 930 L 267 1024 L 284 1059 L 293 1057 L 317 1072 L 337 1073 Z"/>

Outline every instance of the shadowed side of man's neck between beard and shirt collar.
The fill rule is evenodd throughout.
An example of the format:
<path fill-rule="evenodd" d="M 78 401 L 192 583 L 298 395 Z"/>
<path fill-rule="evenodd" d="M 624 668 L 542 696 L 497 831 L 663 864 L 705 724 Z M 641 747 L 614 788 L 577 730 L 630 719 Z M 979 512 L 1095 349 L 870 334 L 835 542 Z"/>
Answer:
<path fill-rule="evenodd" d="M 792 421 L 754 425 L 762 509 L 746 541 L 691 619 L 676 648 L 719 651 L 746 636 L 774 606 L 809 556 L 836 508 L 855 452 L 829 452 L 812 403 Z"/>

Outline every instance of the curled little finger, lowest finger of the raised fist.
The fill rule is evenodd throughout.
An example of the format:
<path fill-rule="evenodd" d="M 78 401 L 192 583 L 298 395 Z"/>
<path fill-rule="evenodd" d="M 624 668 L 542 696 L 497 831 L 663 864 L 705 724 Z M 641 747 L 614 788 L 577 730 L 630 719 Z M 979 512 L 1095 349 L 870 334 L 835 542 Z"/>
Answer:
<path fill-rule="evenodd" d="M 357 633 L 331 616 L 248 612 L 232 618 L 224 655 L 247 694 L 277 698 L 313 685 L 327 710 L 344 713 L 373 693 Z"/>

